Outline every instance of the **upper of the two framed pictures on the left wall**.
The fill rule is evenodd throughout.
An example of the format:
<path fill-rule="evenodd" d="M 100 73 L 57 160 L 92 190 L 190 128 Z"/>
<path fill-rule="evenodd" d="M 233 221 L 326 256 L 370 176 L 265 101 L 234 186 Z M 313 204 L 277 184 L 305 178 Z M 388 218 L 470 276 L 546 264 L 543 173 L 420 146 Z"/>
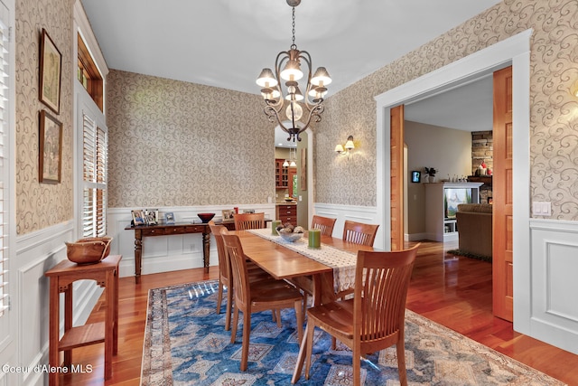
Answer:
<path fill-rule="evenodd" d="M 61 110 L 62 55 L 42 28 L 40 41 L 40 100 L 56 114 Z"/>

